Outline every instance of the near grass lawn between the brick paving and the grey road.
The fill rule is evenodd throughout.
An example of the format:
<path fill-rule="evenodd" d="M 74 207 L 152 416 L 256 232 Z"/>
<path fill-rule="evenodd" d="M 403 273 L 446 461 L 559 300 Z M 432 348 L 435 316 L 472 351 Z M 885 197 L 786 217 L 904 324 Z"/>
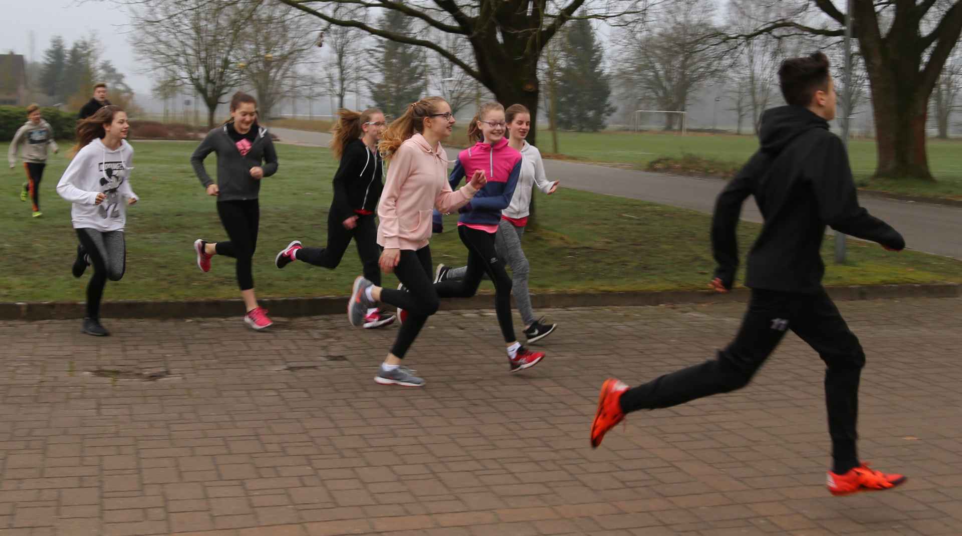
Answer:
<path fill-rule="evenodd" d="M 107 286 L 106 299 L 238 297 L 233 260 L 215 257 L 210 273 L 194 264 L 192 242 L 225 238 L 215 200 L 204 194 L 190 169 L 192 142 L 135 141 L 134 191 L 128 212 L 127 273 Z M 0 151 L 7 144 L 0 143 Z M 329 151 L 278 145 L 280 170 L 261 190 L 261 230 L 254 277 L 261 296 L 343 295 L 361 267 L 349 248 L 337 270 L 294 263 L 274 268 L 277 251 L 293 239 L 322 245 L 326 237 L 331 177 Z M 208 169 L 215 170 L 214 158 Z M 0 301 L 84 299 L 85 276 L 70 275 L 76 236 L 70 205 L 55 191 L 66 159 L 53 157 L 40 186 L 43 217 L 30 217 L 19 200 L 23 167 L 0 182 Z M 632 199 L 562 189 L 538 196 L 540 228 L 525 234 L 535 291 L 641 291 L 703 289 L 714 268 L 708 244 L 709 217 Z M 432 240 L 435 263 L 464 263 L 454 217 Z M 747 247 L 758 226 L 743 223 Z M 825 244 L 830 250 L 831 241 Z M 829 257 L 826 257 L 829 258 Z M 888 253 L 852 242 L 850 264 L 829 266 L 828 285 L 962 282 L 962 262 L 914 252 Z M 393 276 L 385 285 L 396 285 Z M 485 284 L 490 289 L 490 283 Z"/>

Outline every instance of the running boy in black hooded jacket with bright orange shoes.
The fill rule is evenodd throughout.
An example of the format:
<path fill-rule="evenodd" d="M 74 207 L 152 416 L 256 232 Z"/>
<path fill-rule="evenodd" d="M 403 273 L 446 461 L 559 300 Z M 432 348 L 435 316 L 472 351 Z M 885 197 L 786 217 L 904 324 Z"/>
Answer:
<path fill-rule="evenodd" d="M 832 495 L 885 490 L 905 481 L 873 471 L 855 450 L 858 383 L 865 353 L 822 287 L 819 250 L 825 226 L 880 243 L 905 247 L 901 235 L 859 207 L 842 140 L 828 131 L 835 118 L 835 88 L 828 59 L 816 53 L 778 70 L 788 106 L 762 115 L 761 148 L 722 191 L 712 220 L 718 268 L 711 286 L 731 290 L 738 267 L 735 228 L 742 203 L 754 195 L 765 223 L 748 253 L 748 310 L 735 340 L 718 359 L 677 370 L 631 389 L 610 378 L 601 387 L 592 424 L 592 447 L 627 413 L 667 408 L 745 387 L 786 330 L 812 346 L 825 363 L 825 403 L 832 439 Z"/>

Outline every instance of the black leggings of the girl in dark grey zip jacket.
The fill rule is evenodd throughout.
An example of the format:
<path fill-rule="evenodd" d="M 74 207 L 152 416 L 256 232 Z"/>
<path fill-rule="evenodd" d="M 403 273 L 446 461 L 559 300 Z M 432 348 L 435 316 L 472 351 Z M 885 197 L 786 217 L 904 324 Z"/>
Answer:
<path fill-rule="evenodd" d="M 251 263 L 257 249 L 257 228 L 261 224 L 261 207 L 257 199 L 217 201 L 217 215 L 224 224 L 230 242 L 217 242 L 217 255 L 233 257 L 237 262 L 238 285 L 241 291 L 254 288 Z"/>

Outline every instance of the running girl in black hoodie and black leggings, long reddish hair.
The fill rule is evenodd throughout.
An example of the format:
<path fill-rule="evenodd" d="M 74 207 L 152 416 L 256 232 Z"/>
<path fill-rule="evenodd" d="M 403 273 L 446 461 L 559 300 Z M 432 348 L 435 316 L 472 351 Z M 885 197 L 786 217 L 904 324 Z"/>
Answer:
<path fill-rule="evenodd" d="M 277 254 L 274 265 L 284 268 L 292 261 L 303 261 L 316 267 L 338 268 L 347 245 L 354 239 L 365 278 L 381 286 L 381 270 L 377 266 L 381 249 L 377 245 L 374 211 L 384 189 L 384 162 L 377 143 L 387 124 L 384 113 L 376 108 L 361 113 L 341 110 L 338 116 L 331 151 L 341 164 L 334 174 L 334 199 L 327 213 L 327 247 L 304 247 L 300 241 L 293 241 Z M 371 307 L 364 327 L 381 327 L 393 321 L 393 315 Z"/>

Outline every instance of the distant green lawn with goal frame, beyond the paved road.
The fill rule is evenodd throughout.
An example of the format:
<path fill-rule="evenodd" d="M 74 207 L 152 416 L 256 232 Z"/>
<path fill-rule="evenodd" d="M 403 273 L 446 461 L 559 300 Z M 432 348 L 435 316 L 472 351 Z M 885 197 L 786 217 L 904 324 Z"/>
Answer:
<path fill-rule="evenodd" d="M 538 143 L 545 151 L 551 147 L 551 133 L 539 133 Z M 655 134 L 630 132 L 579 133 L 558 135 L 562 154 L 592 162 L 625 164 L 646 169 L 651 161 L 670 157 L 680 159 L 693 155 L 739 167 L 758 148 L 753 136 L 688 134 Z M 856 139 L 849 142 L 852 172 L 859 187 L 906 195 L 962 199 L 962 141 L 928 140 L 928 163 L 936 182 L 869 180 L 875 170 L 875 141 Z"/>

